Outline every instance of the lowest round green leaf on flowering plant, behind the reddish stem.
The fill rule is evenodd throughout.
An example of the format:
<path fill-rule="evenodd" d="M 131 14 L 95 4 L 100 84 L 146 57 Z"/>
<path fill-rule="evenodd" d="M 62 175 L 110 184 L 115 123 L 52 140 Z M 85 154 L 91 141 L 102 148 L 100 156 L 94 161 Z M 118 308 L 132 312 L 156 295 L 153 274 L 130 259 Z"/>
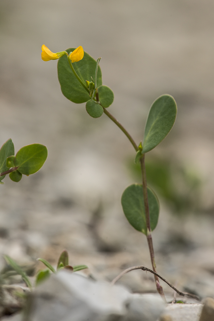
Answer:
<path fill-rule="evenodd" d="M 157 196 L 149 187 L 147 187 L 147 192 L 150 210 L 150 226 L 151 230 L 154 230 L 158 224 L 159 202 Z M 123 192 L 121 203 L 129 223 L 133 228 L 146 235 L 147 226 L 142 184 L 133 184 L 127 187 Z"/>

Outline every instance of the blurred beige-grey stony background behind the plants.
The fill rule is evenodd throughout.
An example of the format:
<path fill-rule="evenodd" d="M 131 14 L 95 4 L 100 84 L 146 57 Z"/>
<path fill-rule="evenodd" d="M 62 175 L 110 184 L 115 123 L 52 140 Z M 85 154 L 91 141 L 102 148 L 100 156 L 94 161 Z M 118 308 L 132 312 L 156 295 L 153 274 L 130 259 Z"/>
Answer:
<path fill-rule="evenodd" d="M 12 138 L 15 152 L 31 143 L 48 148 L 38 173 L 0 185 L 1 256 L 33 275 L 43 267 L 36 258 L 54 265 L 66 248 L 70 264 L 88 265 L 84 273 L 98 280 L 151 267 L 146 238 L 120 203 L 140 182 L 132 145 L 106 115 L 92 119 L 85 104 L 67 100 L 57 62 L 41 60 L 43 44 L 53 52 L 81 45 L 102 57 L 103 84 L 115 94 L 109 111 L 137 143 L 152 102 L 174 96 L 175 126 L 147 154 L 161 204 L 157 270 L 180 289 L 214 296 L 213 31 L 211 0 L 1 0 L 0 145 Z M 121 282 L 155 291 L 142 271 Z"/>

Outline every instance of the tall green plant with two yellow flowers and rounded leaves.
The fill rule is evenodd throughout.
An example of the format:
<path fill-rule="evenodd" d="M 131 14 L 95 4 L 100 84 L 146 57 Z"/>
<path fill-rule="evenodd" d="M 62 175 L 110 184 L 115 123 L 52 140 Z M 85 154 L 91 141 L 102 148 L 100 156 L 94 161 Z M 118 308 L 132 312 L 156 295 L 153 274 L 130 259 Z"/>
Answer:
<path fill-rule="evenodd" d="M 173 127 L 177 114 L 174 98 L 170 95 L 162 95 L 153 102 L 146 121 L 143 141 L 136 144 L 124 126 L 106 109 L 113 103 L 114 94 L 109 87 L 102 85 L 102 74 L 99 67 L 101 58 L 95 61 L 86 52 L 83 55 L 81 46 L 56 54 L 45 45 L 42 46 L 42 50 L 43 60 L 59 59 L 58 79 L 64 96 L 74 103 L 86 102 L 86 111 L 93 118 L 101 117 L 105 113 L 133 145 L 136 152 L 135 163 L 139 163 L 141 167 L 142 184 L 127 187 L 123 192 L 121 202 L 129 223 L 146 235 L 152 268 L 156 272 L 151 231 L 158 223 L 159 202 L 153 190 L 147 187 L 145 154 L 161 143 Z M 81 55 L 76 55 L 79 51 Z M 157 291 L 164 297 L 157 275 L 155 275 L 155 282 Z"/>

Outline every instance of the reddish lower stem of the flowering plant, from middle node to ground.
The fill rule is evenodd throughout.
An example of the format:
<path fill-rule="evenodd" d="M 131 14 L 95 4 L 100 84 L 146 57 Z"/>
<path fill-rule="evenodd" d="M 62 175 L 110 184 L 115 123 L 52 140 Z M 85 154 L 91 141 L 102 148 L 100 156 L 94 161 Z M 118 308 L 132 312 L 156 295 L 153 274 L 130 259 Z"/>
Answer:
<path fill-rule="evenodd" d="M 140 163 L 141 163 L 141 173 L 142 173 L 142 183 L 143 183 L 143 199 L 144 199 L 144 207 L 145 207 L 145 214 L 146 214 L 146 227 L 147 227 L 146 238 L 147 238 L 147 243 L 150 251 L 152 269 L 155 273 L 157 273 L 156 264 L 155 264 L 155 254 L 154 254 L 154 248 L 153 248 L 153 242 L 152 242 L 152 236 L 151 236 L 149 201 L 148 201 L 147 182 L 146 182 L 145 154 L 142 155 L 140 159 Z M 165 299 L 163 288 L 160 285 L 158 276 L 156 274 L 154 274 L 154 278 L 155 278 L 155 283 L 156 283 L 156 288 L 158 293 Z"/>

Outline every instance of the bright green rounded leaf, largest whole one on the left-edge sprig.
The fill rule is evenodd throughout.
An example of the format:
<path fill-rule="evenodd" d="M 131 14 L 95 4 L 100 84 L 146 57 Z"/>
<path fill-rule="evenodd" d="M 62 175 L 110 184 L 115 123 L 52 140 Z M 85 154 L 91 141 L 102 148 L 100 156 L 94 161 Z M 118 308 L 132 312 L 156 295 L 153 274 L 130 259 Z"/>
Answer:
<path fill-rule="evenodd" d="M 47 147 L 41 144 L 31 144 L 22 147 L 15 157 L 15 167 L 21 174 L 36 173 L 47 159 Z"/>

